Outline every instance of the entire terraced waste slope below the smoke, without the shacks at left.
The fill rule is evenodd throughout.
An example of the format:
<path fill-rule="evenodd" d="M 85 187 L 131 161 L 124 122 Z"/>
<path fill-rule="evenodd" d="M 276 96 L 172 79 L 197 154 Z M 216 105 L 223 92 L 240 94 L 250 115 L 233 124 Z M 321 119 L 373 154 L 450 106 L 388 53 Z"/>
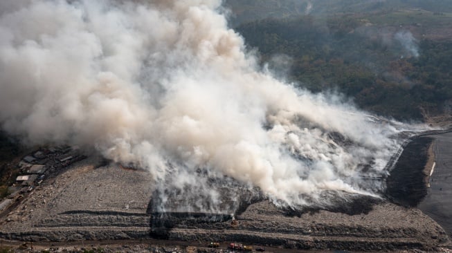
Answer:
<path fill-rule="evenodd" d="M 244 208 L 235 221 L 230 215 L 153 216 L 150 174 L 118 165 L 96 168 L 98 163 L 88 158 L 46 179 L 2 218 L 0 237 L 82 241 L 160 236 L 173 242 L 237 241 L 358 251 L 437 250 L 451 245 L 444 230 L 419 209 L 362 197 L 329 211 L 284 210 L 261 200 Z"/>

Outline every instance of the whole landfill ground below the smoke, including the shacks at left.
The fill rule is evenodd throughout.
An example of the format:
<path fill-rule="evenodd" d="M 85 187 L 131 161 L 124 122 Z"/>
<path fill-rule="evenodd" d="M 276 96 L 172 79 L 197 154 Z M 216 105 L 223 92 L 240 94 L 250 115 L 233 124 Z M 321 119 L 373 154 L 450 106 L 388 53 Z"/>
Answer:
<path fill-rule="evenodd" d="M 235 214 L 158 213 L 149 172 L 78 147 L 39 149 L 17 166 L 22 175 L 1 203 L 0 237 L 24 243 L 26 252 L 33 243 L 55 250 L 55 243 L 80 249 L 88 241 L 123 242 L 118 247 L 125 252 L 449 252 L 451 246 L 442 227 L 419 209 L 380 198 L 351 196 L 328 210 L 304 211 L 244 198 Z M 134 240 L 148 246 L 122 248 Z M 174 247 L 155 247 L 154 240 Z"/>

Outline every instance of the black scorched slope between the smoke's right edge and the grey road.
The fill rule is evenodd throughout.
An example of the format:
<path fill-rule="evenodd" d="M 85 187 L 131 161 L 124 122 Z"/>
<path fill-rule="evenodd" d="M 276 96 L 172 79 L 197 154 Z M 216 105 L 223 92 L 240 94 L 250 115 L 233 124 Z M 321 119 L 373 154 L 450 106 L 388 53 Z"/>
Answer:
<path fill-rule="evenodd" d="M 406 145 L 386 179 L 386 197 L 393 203 L 416 207 L 427 195 L 424 167 L 433 138 L 419 137 Z"/>

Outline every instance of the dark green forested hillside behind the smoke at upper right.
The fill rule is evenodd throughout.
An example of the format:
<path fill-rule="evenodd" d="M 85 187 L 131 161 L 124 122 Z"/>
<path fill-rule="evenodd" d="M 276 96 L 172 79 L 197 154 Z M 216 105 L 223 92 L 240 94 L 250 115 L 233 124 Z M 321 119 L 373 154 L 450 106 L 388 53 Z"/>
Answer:
<path fill-rule="evenodd" d="M 284 57 L 273 65 L 287 66 L 289 79 L 300 86 L 339 91 L 380 115 L 426 120 L 451 114 L 452 12 L 445 10 L 303 14 L 236 30 L 259 50 L 262 63 L 287 55 L 287 65 L 281 64 Z"/>

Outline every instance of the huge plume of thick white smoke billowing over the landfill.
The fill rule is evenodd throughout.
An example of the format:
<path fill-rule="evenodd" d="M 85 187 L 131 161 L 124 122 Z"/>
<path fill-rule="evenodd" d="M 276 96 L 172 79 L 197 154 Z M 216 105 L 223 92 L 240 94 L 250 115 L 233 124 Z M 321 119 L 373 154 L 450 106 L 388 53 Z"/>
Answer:
<path fill-rule="evenodd" d="M 259 71 L 219 0 L 0 6 L 0 122 L 28 143 L 96 147 L 210 205 L 208 178 L 287 205 L 381 190 L 362 178 L 387 174 L 399 130 Z"/>

